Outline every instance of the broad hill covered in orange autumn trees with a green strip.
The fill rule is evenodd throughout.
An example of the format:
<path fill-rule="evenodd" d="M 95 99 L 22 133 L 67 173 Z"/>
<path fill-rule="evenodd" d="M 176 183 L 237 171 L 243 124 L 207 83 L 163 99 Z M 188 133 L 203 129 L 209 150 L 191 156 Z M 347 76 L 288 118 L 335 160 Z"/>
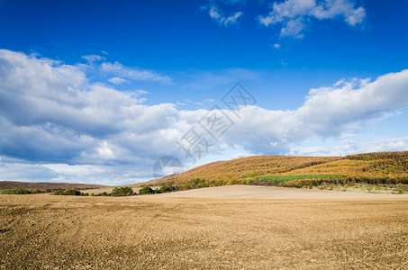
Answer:
<path fill-rule="evenodd" d="M 310 188 L 328 184 L 408 184 L 408 151 L 347 157 L 241 157 L 198 166 L 155 184 L 173 184 L 182 190 L 229 184 Z"/>

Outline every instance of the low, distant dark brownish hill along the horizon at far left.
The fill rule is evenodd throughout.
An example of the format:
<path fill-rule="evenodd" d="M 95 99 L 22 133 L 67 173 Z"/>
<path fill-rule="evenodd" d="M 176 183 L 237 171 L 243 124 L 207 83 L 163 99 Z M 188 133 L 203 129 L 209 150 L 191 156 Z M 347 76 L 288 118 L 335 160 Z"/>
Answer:
<path fill-rule="evenodd" d="M 106 187 L 102 184 L 70 184 L 70 183 L 30 183 L 30 182 L 13 182 L 0 181 L 0 190 L 3 189 L 40 189 L 45 191 L 54 191 L 57 189 L 93 189 Z"/>

